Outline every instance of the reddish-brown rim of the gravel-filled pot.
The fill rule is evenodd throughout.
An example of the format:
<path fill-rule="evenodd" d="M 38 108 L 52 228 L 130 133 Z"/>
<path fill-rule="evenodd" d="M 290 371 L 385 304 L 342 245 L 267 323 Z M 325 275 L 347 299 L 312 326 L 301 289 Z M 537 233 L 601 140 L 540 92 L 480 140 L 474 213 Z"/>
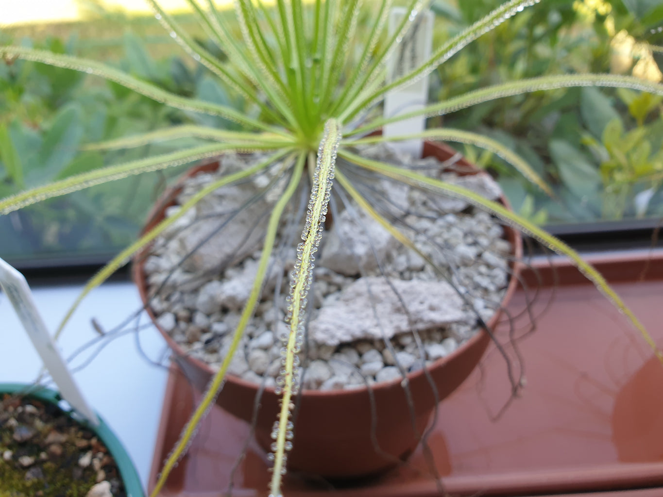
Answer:
<path fill-rule="evenodd" d="M 430 142 L 426 141 L 424 142 L 426 146 L 433 146 L 435 148 L 442 148 L 442 149 L 448 149 L 448 145 L 441 143 L 441 142 Z M 453 150 L 453 149 L 452 149 Z M 467 166 L 470 166 L 473 168 L 473 172 L 465 173 L 465 174 L 485 174 L 489 175 L 485 170 L 481 170 L 477 168 L 477 166 L 474 166 L 470 162 L 463 158 L 459 160 L 459 162 L 465 162 Z M 164 211 L 166 207 L 169 205 L 173 205 L 174 199 L 176 198 L 176 195 L 181 191 L 182 189 L 182 183 L 186 178 L 189 178 L 191 176 L 195 176 L 196 174 L 201 174 L 203 172 L 211 172 L 214 170 L 217 170 L 217 168 L 221 167 L 221 164 L 219 160 L 208 160 L 206 162 L 202 162 L 198 164 L 198 166 L 194 166 L 186 172 L 180 180 L 176 184 L 174 184 L 171 188 L 169 188 L 164 194 L 160 197 L 160 200 L 158 200 L 152 211 L 149 213 L 147 219 L 147 223 L 145 225 L 145 228 L 141 231 L 141 234 L 146 233 L 149 229 L 151 229 L 160 219 L 162 219 Z M 509 201 L 507 197 L 505 197 L 504 194 L 500 195 L 499 202 L 502 203 L 507 209 L 511 209 L 511 205 L 509 204 Z M 503 309 L 503 304 L 505 302 L 509 302 L 516 291 L 516 287 L 518 286 L 518 276 L 521 271 L 521 265 L 522 262 L 520 260 L 522 259 L 522 236 L 520 235 L 520 231 L 517 231 L 516 229 L 513 229 L 509 225 L 504 226 L 506 236 L 505 238 L 511 242 L 512 245 L 512 252 L 511 252 L 511 257 L 513 260 L 509 262 L 509 268 L 511 270 L 511 277 L 509 278 L 509 284 L 507 285 L 507 290 L 505 291 L 501 304 L 499 309 L 495 311 L 493 316 L 491 316 L 491 319 L 486 323 L 488 329 L 491 330 L 491 333 L 493 329 L 495 329 L 495 325 L 497 325 L 501 315 L 502 315 L 502 309 Z M 145 254 L 147 250 L 150 249 L 152 244 L 147 245 L 144 247 L 142 250 L 137 252 L 133 256 L 133 266 L 131 268 L 131 273 L 133 276 L 133 280 L 138 287 L 139 294 L 141 296 L 141 300 L 143 302 L 143 306 L 145 311 L 147 311 L 150 319 L 152 320 L 152 324 L 158 329 L 159 333 L 164 337 L 166 340 L 166 343 L 168 343 L 168 347 L 172 349 L 172 351 L 175 353 L 177 358 L 182 358 L 184 360 L 187 360 L 188 362 L 191 362 L 196 366 L 197 368 L 203 370 L 206 372 L 206 374 L 210 374 L 211 376 L 215 375 L 217 370 L 214 370 L 210 367 L 210 365 L 206 362 L 203 362 L 200 359 L 197 359 L 196 357 L 192 357 L 190 355 L 187 355 L 180 345 L 176 343 L 168 335 L 166 331 L 158 325 L 156 321 L 156 317 L 154 316 L 154 313 L 152 312 L 152 309 L 147 305 L 147 282 L 145 278 L 145 272 L 143 271 L 143 266 L 145 265 Z M 452 359 L 455 359 L 459 355 L 461 355 L 466 349 L 471 349 L 473 345 L 475 345 L 477 342 L 485 339 L 485 336 L 487 335 L 487 331 L 485 329 L 481 329 L 479 333 L 475 333 L 471 338 L 467 339 L 463 343 L 461 343 L 455 351 L 453 351 L 451 354 L 441 357 L 440 359 L 435 360 L 430 366 L 426 366 L 424 364 L 424 367 L 420 370 L 410 372 L 406 374 L 405 378 L 394 378 L 394 380 L 390 380 L 389 382 L 380 382 L 380 383 L 375 383 L 370 386 L 371 390 L 373 392 L 380 392 L 380 391 L 386 391 L 391 388 L 394 388 L 401 384 L 404 379 L 407 379 L 408 382 L 415 380 L 416 378 L 420 378 L 420 376 L 424 375 L 426 372 L 440 368 L 441 366 L 444 366 L 446 362 L 449 362 Z M 243 388 L 248 388 L 251 390 L 257 391 L 260 388 L 260 385 L 257 383 L 249 382 L 247 380 L 244 380 L 243 378 L 240 378 L 239 376 L 235 376 L 233 374 L 226 374 L 225 375 L 225 381 L 227 382 L 233 382 Z M 336 390 L 312 390 L 312 389 L 300 389 L 300 395 L 308 396 L 310 398 L 330 398 L 332 396 L 352 396 L 352 395 L 363 395 L 368 391 L 369 387 L 366 386 L 365 384 L 361 386 L 357 386 L 357 388 L 351 388 L 351 389 L 336 389 Z M 271 386 L 265 386 L 263 388 L 264 393 L 269 393 L 276 395 L 274 387 Z"/>

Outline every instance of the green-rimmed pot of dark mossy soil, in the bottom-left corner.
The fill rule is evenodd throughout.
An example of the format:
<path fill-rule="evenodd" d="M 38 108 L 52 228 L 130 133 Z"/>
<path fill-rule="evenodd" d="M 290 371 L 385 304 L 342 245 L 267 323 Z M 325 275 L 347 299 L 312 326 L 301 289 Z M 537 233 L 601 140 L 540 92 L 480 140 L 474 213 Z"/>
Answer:
<path fill-rule="evenodd" d="M 129 455 L 98 426 L 58 406 L 54 390 L 0 384 L 0 495 L 142 497 Z"/>

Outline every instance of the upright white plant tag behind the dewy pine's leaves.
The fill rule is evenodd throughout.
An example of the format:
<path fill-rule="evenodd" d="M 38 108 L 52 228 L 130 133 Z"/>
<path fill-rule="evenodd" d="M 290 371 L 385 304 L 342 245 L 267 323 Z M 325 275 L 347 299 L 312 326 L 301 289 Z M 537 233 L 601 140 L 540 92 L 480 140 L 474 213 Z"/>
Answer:
<path fill-rule="evenodd" d="M 402 17 L 407 15 L 406 9 L 394 7 L 389 16 L 389 34 L 392 34 Z M 431 56 L 433 44 L 434 15 L 430 11 L 422 11 L 414 20 L 409 32 L 400 41 L 387 65 L 387 82 L 391 83 L 401 76 L 421 66 Z M 389 91 L 385 95 L 385 117 L 394 117 L 418 109 L 428 103 L 428 76 L 410 85 Z M 426 117 L 411 117 L 398 123 L 386 125 L 385 136 L 412 135 L 421 133 L 426 127 Z M 400 150 L 413 157 L 421 157 L 424 144 L 422 140 L 395 142 Z"/>

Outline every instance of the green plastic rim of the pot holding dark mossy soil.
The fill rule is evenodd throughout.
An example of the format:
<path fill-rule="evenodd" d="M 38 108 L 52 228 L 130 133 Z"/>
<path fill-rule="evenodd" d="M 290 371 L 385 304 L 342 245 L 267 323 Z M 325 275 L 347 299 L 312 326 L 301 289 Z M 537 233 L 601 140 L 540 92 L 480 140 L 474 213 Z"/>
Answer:
<path fill-rule="evenodd" d="M 31 387 L 31 385 L 23 383 L 0 383 L 0 395 L 18 394 L 30 389 L 34 390 L 34 392 L 29 392 L 26 395 L 28 398 L 35 398 L 37 400 L 41 400 L 42 402 L 48 402 L 50 404 L 56 405 L 62 400 L 60 394 L 55 390 L 51 390 L 50 388 L 33 389 Z M 60 407 L 60 409 L 62 408 Z M 66 412 L 64 409 L 63 411 Z M 72 416 L 70 415 L 70 417 Z M 113 459 L 115 459 L 115 464 L 117 464 L 117 469 L 119 469 L 125 490 L 127 491 L 127 497 L 145 497 L 145 492 L 143 492 L 141 480 L 138 477 L 138 473 L 136 472 L 133 463 L 131 462 L 129 454 L 127 454 L 127 451 L 125 451 L 125 448 L 115 436 L 115 433 L 111 431 L 110 427 L 101 418 L 101 416 L 97 415 L 97 417 L 99 417 L 98 426 L 92 426 L 87 421 L 83 421 L 81 419 L 76 419 L 76 422 L 86 429 L 93 431 L 97 438 L 101 440 L 107 447 L 110 455 L 113 457 Z"/>

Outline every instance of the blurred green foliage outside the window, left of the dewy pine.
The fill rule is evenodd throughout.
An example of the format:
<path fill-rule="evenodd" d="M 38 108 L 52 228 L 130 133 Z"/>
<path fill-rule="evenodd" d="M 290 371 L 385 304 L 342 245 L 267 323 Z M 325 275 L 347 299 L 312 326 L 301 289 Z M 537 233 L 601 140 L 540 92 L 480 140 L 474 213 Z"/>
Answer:
<path fill-rule="evenodd" d="M 242 108 L 204 66 L 187 65 L 172 55 L 152 58 L 143 39 L 132 32 L 116 38 L 121 52 L 117 66 L 129 74 L 178 95 Z M 22 38 L 21 44 L 73 54 L 88 41 L 70 36 L 63 42 L 49 36 L 34 42 Z M 103 164 L 177 150 L 196 140 L 183 137 L 124 150 L 97 150 L 90 145 L 93 142 L 175 124 L 232 125 L 219 117 L 172 109 L 114 83 L 98 83 L 89 83 L 80 72 L 25 60 L 0 65 L 0 196 Z M 20 263 L 47 256 L 112 254 L 137 237 L 160 188 L 175 174 L 178 170 L 145 175 L 139 182 L 125 180 L 5 216 L 0 219 L 3 256 Z"/>

